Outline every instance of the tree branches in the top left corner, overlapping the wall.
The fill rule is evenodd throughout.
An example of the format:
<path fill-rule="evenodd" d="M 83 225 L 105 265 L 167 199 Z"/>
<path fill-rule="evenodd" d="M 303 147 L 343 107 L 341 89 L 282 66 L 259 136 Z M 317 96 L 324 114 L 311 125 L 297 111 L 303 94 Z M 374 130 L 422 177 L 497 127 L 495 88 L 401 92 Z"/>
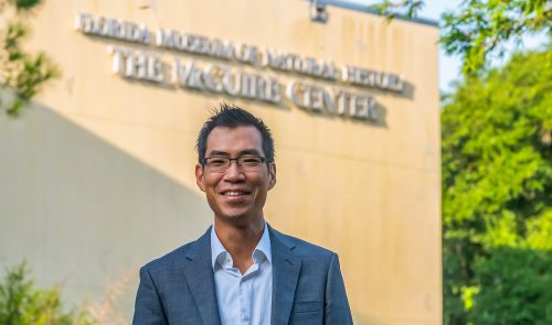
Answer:
<path fill-rule="evenodd" d="M 0 14 L 11 12 L 14 17 L 0 30 L 0 91 L 13 95 L 8 104 L 0 98 L 0 109 L 6 108 L 8 115 L 18 115 L 45 82 L 60 74 L 44 53 L 29 54 L 21 46 L 29 33 L 23 18 L 40 3 L 41 0 L 0 0 Z"/>

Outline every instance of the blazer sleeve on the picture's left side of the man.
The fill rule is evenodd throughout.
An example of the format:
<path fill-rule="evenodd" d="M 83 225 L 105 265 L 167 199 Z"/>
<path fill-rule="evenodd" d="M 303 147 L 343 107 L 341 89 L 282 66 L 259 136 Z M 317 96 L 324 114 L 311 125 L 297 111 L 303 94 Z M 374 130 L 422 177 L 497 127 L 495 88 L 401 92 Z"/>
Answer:
<path fill-rule="evenodd" d="M 146 267 L 140 269 L 132 325 L 168 325 L 161 299 Z"/>

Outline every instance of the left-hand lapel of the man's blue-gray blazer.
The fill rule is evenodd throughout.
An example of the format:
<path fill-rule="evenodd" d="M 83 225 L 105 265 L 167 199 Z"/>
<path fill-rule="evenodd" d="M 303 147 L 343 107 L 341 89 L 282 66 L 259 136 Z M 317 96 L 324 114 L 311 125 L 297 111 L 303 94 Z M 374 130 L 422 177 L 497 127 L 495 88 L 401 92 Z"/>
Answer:
<path fill-rule="evenodd" d="M 185 256 L 184 275 L 204 325 L 221 325 L 213 266 L 211 263 L 211 228 L 195 241 Z"/>

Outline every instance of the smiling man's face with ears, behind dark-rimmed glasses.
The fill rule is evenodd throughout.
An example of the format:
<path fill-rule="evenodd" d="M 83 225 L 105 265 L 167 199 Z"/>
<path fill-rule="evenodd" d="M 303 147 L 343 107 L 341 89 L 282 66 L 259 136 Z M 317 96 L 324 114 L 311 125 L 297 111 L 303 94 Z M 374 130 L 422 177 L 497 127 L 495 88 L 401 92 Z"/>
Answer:
<path fill-rule="evenodd" d="M 266 158 L 263 138 L 255 127 L 216 127 L 209 133 L 205 158 L 244 155 Z M 215 173 L 198 164 L 195 181 L 219 221 L 247 225 L 263 219 L 266 194 L 276 184 L 276 165 L 263 163 L 256 171 L 244 172 L 232 161 L 225 172 Z"/>

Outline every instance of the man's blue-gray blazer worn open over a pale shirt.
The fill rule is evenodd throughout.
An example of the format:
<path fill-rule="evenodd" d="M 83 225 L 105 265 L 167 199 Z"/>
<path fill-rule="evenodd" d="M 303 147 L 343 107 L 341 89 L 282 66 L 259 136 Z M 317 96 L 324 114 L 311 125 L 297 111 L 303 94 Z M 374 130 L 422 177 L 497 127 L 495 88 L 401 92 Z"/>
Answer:
<path fill-rule="evenodd" d="M 210 231 L 140 269 L 134 325 L 221 325 Z M 337 254 L 270 227 L 268 234 L 270 324 L 352 324 Z"/>

